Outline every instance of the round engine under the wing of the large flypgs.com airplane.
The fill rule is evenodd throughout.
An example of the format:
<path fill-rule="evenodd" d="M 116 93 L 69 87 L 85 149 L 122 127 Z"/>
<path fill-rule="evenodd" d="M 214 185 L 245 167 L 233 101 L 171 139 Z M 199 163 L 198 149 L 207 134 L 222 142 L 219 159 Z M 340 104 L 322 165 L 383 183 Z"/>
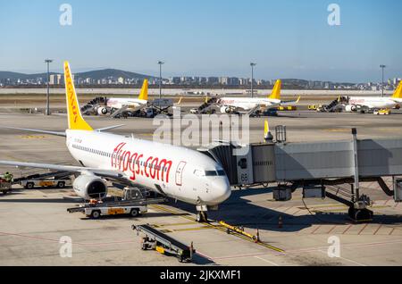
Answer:
<path fill-rule="evenodd" d="M 91 175 L 80 175 L 72 184 L 75 193 L 85 200 L 102 200 L 107 196 L 106 181 Z"/>

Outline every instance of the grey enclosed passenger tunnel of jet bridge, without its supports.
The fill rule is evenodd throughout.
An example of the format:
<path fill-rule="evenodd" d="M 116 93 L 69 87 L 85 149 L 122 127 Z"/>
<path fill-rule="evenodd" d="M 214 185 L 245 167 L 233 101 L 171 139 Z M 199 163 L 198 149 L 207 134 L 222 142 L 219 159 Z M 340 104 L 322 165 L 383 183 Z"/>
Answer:
<path fill-rule="evenodd" d="M 216 146 L 203 152 L 222 163 L 234 186 L 355 176 L 352 140 L 249 147 L 246 155 L 236 155 L 233 145 Z M 402 139 L 357 140 L 357 156 L 361 178 L 402 175 Z"/>

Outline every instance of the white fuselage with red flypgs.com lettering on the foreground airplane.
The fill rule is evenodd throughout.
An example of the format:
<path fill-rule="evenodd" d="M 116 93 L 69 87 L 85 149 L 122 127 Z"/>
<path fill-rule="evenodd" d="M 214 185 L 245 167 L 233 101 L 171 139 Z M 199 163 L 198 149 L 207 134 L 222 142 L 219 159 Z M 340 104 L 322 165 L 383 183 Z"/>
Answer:
<path fill-rule="evenodd" d="M 222 167 L 197 151 L 96 131 L 67 130 L 79 163 L 119 171 L 133 185 L 192 205 L 219 205 L 230 196 Z"/>

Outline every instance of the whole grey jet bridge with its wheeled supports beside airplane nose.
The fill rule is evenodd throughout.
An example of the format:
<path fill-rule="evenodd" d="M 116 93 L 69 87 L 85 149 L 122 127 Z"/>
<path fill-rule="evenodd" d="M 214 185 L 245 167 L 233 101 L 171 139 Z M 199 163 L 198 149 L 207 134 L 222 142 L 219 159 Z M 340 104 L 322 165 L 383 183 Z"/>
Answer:
<path fill-rule="evenodd" d="M 307 197 L 329 197 L 350 207 L 355 220 L 371 219 L 370 198 L 360 194 L 360 182 L 378 182 L 388 196 L 402 201 L 402 138 L 287 143 L 277 129 L 276 143 L 241 147 L 232 143 L 200 149 L 222 163 L 234 187 L 247 188 L 277 183 L 276 200 L 287 201 L 297 188 Z M 286 133 L 286 131 L 285 131 Z M 281 134 L 280 138 L 278 134 Z M 236 155 L 236 153 L 247 153 Z M 382 180 L 392 177 L 393 188 Z"/>

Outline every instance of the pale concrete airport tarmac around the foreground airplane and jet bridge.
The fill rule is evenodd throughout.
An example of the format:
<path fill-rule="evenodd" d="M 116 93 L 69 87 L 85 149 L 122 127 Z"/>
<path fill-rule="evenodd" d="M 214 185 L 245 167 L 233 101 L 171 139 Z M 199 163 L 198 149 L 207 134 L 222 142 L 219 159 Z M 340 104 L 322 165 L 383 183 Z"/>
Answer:
<path fill-rule="evenodd" d="M 402 113 L 389 116 L 357 113 L 281 113 L 269 119 L 272 129 L 286 125 L 290 142 L 348 140 L 356 127 L 359 138 L 402 137 Z M 152 139 L 157 126 L 149 119 L 110 120 L 88 117 L 94 128 L 124 123 L 114 133 Z M 0 113 L 0 125 L 63 130 L 63 114 Z M 263 141 L 264 118 L 250 119 L 250 142 Z M 77 164 L 63 138 L 0 129 L 0 159 L 21 162 Z M 0 172 L 11 170 L 0 167 Z M 18 176 L 19 171 L 14 171 Z M 23 172 L 22 172 L 23 173 Z M 390 182 L 390 180 L 388 180 Z M 273 185 L 271 185 L 273 186 Z M 142 251 L 132 224 L 149 223 L 173 238 L 194 242 L 197 256 L 192 265 L 401 265 L 402 205 L 373 183 L 362 184 L 374 201 L 372 222 L 348 220 L 348 208 L 331 200 L 302 200 L 300 191 L 290 202 L 272 201 L 272 188 L 234 190 L 211 224 L 195 222 L 195 208 L 182 203 L 151 205 L 139 218 L 88 220 L 66 209 L 77 203 L 71 188 L 63 190 L 16 188 L 0 196 L 0 265 L 178 265 L 172 257 Z M 305 202 L 305 203 L 304 203 Z M 279 228 L 279 216 L 283 228 Z M 262 243 L 228 235 L 214 221 L 243 225 Z M 60 238 L 72 240 L 72 257 L 60 256 Z M 331 258 L 329 238 L 340 240 L 340 257 Z M 180 264 L 191 265 L 191 264 Z"/>

